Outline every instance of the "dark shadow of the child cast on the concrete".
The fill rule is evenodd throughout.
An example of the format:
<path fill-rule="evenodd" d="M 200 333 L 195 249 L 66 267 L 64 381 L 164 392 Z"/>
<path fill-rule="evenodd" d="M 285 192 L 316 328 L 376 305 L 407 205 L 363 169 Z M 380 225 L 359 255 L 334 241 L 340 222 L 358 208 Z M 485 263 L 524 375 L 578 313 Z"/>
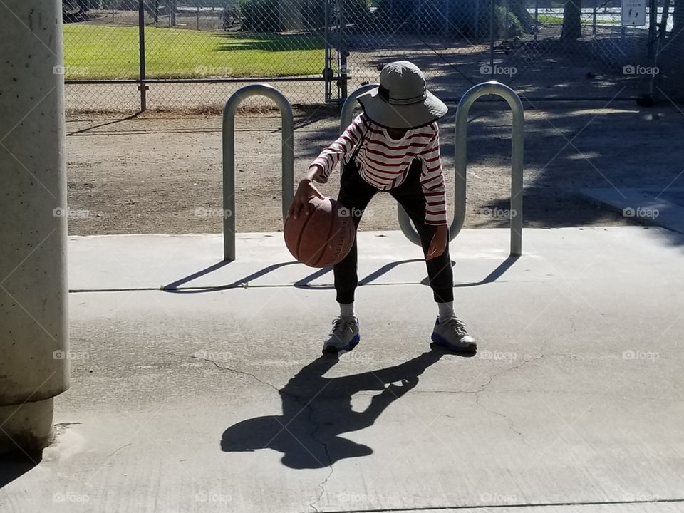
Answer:
<path fill-rule="evenodd" d="M 337 356 L 324 355 L 302 368 L 279 390 L 283 415 L 256 417 L 232 425 L 223 433 L 221 449 L 276 450 L 283 453 L 283 465 L 294 469 L 328 467 L 345 458 L 371 455 L 371 447 L 339 435 L 371 427 L 380 413 L 414 388 L 418 376 L 443 354 L 445 351 L 433 345 L 432 351 L 398 366 L 342 378 L 323 378 L 339 361 Z M 380 393 L 373 395 L 365 410 L 352 410 L 352 396 L 366 390 Z"/>

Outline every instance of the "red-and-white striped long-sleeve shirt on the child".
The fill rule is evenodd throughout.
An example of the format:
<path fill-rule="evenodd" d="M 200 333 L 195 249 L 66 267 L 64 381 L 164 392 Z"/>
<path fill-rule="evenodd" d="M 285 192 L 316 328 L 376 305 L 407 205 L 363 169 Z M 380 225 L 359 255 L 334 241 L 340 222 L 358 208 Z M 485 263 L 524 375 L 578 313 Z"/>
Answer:
<path fill-rule="evenodd" d="M 423 128 L 407 130 L 401 139 L 392 139 L 385 128 L 373 123 L 366 114 L 353 120 L 344 133 L 318 155 L 311 164 L 323 168 L 321 180 L 328 177 L 338 162 L 346 164 L 356 146 L 363 145 L 356 157 L 358 173 L 378 190 L 400 185 L 408 175 L 411 162 L 422 162 L 420 183 L 425 194 L 425 223 L 447 224 L 447 208 L 440 156 L 440 130 L 433 122 Z"/>

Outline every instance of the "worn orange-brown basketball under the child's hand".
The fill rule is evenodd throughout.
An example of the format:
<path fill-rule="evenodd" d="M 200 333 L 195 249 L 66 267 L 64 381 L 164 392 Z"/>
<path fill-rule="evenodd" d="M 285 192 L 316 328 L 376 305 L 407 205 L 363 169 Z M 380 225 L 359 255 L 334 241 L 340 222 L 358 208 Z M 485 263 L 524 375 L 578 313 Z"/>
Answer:
<path fill-rule="evenodd" d="M 314 209 L 285 219 L 283 234 L 289 252 L 302 264 L 329 267 L 347 256 L 356 237 L 348 209 L 332 198 L 312 198 Z"/>

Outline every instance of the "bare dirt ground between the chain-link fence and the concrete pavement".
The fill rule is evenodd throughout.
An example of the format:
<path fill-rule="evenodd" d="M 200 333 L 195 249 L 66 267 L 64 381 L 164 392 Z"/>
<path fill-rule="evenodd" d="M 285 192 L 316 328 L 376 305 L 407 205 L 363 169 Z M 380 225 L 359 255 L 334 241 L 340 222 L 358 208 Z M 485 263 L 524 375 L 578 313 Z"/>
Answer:
<path fill-rule="evenodd" d="M 526 227 L 628 222 L 581 199 L 577 192 L 584 187 L 684 187 L 684 113 L 675 105 L 525 106 Z M 338 115 L 332 106 L 296 111 L 296 175 L 336 137 Z M 510 115 L 502 103 L 476 103 L 470 117 L 465 226 L 504 227 Z M 66 126 L 70 234 L 221 231 L 219 117 L 73 115 Z M 237 126 L 237 229 L 277 231 L 282 226 L 279 115 L 246 113 Z M 452 210 L 452 111 L 441 127 Z M 326 195 L 336 195 L 337 177 L 321 187 Z M 396 217 L 392 198 L 379 195 L 361 229 L 397 229 Z"/>

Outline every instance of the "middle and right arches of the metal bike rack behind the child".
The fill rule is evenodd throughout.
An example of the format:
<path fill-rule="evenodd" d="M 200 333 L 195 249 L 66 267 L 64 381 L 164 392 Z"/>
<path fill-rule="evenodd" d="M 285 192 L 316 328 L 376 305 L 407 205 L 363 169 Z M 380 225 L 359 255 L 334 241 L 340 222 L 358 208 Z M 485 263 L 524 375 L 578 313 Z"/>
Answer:
<path fill-rule="evenodd" d="M 351 123 L 356 98 L 366 91 L 377 87 L 377 84 L 368 84 L 355 90 L 342 106 L 341 131 Z M 513 130 L 511 136 L 512 166 L 511 166 L 511 254 L 519 255 L 522 252 L 522 156 L 524 139 L 524 110 L 522 102 L 514 91 L 502 83 L 496 81 L 484 82 L 473 86 L 458 103 L 456 112 L 455 129 L 455 182 L 454 182 L 454 219 L 449 227 L 449 239 L 453 240 L 461 231 L 465 221 L 465 189 L 467 185 L 467 123 L 470 106 L 484 95 L 497 95 L 504 98 L 513 114 Z M 420 246 L 420 237 L 415 231 L 410 217 L 399 205 L 399 226 L 401 231 L 414 244 Z"/>

